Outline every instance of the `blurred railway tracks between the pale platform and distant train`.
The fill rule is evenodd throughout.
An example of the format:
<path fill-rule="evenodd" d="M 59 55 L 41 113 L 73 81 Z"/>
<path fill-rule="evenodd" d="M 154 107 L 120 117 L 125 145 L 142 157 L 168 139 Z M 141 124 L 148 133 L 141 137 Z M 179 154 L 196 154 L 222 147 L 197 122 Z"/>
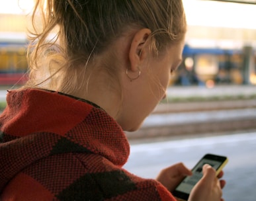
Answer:
<path fill-rule="evenodd" d="M 159 104 L 129 140 L 256 130 L 256 99 Z"/>

